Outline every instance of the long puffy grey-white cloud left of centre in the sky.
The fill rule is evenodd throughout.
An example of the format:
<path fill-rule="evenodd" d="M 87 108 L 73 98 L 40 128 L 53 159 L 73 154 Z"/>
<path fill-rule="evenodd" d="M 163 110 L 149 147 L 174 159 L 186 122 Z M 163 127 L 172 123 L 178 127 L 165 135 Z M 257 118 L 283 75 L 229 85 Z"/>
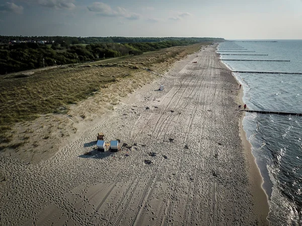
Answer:
<path fill-rule="evenodd" d="M 140 18 L 139 14 L 131 13 L 122 7 L 117 7 L 116 10 L 113 10 L 109 5 L 101 2 L 93 3 L 87 9 L 102 17 L 122 17 L 128 20 L 138 20 Z"/>

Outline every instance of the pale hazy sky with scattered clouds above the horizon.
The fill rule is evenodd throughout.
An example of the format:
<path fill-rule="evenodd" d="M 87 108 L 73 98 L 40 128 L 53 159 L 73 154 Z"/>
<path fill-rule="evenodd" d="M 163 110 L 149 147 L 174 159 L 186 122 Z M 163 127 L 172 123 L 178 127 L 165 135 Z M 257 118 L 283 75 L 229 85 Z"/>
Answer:
<path fill-rule="evenodd" d="M 302 39 L 302 0 L 0 0 L 0 35 Z"/>

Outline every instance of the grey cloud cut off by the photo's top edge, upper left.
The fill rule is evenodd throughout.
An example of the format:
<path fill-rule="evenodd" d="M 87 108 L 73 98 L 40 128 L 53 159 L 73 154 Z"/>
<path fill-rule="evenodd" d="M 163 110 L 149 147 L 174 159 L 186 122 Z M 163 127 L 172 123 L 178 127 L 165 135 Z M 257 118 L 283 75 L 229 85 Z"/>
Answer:
<path fill-rule="evenodd" d="M 73 10 L 75 8 L 73 4 L 74 0 L 28 0 L 26 2 L 42 7 L 62 10 Z"/>

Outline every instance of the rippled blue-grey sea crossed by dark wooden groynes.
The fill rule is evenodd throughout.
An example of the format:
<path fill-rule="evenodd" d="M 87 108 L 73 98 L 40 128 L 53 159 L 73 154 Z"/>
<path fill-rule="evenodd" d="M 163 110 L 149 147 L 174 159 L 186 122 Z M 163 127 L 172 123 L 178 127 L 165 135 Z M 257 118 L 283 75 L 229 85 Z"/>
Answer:
<path fill-rule="evenodd" d="M 264 179 L 270 224 L 302 225 L 302 117 L 294 115 L 302 113 L 302 40 L 227 41 L 217 53 L 231 70 L 249 71 L 234 73 L 249 109 L 292 113 L 246 112 L 243 128 Z M 257 61 L 230 61 L 236 59 Z"/>

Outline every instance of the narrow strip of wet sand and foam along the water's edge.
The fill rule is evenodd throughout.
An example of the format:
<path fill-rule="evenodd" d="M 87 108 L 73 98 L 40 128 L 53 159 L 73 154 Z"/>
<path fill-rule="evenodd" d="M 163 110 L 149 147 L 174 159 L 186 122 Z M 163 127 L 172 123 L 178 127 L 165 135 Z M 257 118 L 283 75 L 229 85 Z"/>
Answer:
<path fill-rule="evenodd" d="M 221 56 L 219 56 L 219 58 L 221 59 Z M 221 63 L 223 65 L 225 65 L 226 68 L 228 68 L 228 70 L 230 70 L 232 72 L 232 69 L 226 65 L 222 60 Z M 240 81 L 236 78 L 235 74 L 232 72 L 232 75 L 234 76 L 234 78 L 236 79 L 238 84 L 241 84 Z M 241 105 L 244 105 L 244 101 L 243 101 L 243 97 L 244 97 L 244 91 L 243 91 L 243 86 L 240 88 L 240 90 L 238 91 L 238 101 Z M 266 217 L 264 219 L 264 221 L 266 221 L 267 225 L 269 225 L 269 221 L 268 221 L 268 215 L 270 212 L 270 206 L 269 206 L 269 198 L 268 195 L 266 194 L 264 188 L 263 188 L 263 177 L 261 175 L 260 172 L 260 168 L 257 165 L 256 162 L 256 158 L 252 153 L 252 144 L 248 141 L 247 136 L 246 136 L 246 132 L 243 129 L 243 120 L 246 116 L 246 112 L 243 112 L 242 116 L 239 118 L 239 128 L 240 128 L 240 134 L 239 136 L 242 139 L 242 143 L 244 146 L 244 152 L 245 152 L 245 157 L 248 163 L 248 176 L 254 191 L 253 197 L 255 200 L 255 204 L 256 204 L 256 208 L 255 208 L 255 212 L 258 212 L 258 215 L 265 215 L 263 214 L 264 212 L 266 212 Z M 266 201 L 264 201 L 266 200 Z"/>

